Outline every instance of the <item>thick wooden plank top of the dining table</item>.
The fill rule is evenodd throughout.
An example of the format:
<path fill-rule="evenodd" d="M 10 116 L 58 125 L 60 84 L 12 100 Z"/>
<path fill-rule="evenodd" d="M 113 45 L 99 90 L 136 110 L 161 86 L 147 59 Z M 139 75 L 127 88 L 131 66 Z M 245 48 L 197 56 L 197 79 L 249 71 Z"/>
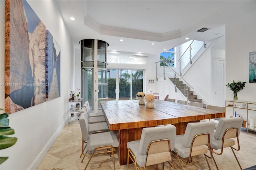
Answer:
<path fill-rule="evenodd" d="M 138 100 L 100 101 L 110 130 L 154 127 L 225 117 L 225 113 L 182 105 L 169 101 L 154 100 L 154 108 L 139 105 Z"/>

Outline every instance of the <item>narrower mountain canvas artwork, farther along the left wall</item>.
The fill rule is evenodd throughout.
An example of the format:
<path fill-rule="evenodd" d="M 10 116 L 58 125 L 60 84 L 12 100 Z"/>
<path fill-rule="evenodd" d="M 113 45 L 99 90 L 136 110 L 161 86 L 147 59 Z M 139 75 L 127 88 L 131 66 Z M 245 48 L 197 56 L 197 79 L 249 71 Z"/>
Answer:
<path fill-rule="evenodd" d="M 46 100 L 60 97 L 60 45 L 46 30 Z"/>

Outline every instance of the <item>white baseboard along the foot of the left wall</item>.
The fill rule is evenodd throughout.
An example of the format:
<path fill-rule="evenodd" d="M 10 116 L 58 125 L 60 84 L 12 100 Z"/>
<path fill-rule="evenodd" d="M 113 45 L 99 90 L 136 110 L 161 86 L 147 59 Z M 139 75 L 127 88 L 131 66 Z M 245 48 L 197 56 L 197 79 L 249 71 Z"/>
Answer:
<path fill-rule="evenodd" d="M 35 160 L 32 162 L 32 164 L 28 167 L 28 170 L 36 170 L 38 165 L 41 163 L 41 161 L 44 159 L 44 156 L 52 146 L 53 142 L 56 140 L 58 135 L 60 134 L 61 130 L 64 128 L 66 123 L 68 122 L 69 117 L 66 117 L 66 119 L 63 121 L 63 123 L 60 125 L 60 127 L 56 130 L 56 132 L 52 135 L 50 140 L 46 143 L 44 148 L 41 150 L 41 152 L 36 156 Z"/>

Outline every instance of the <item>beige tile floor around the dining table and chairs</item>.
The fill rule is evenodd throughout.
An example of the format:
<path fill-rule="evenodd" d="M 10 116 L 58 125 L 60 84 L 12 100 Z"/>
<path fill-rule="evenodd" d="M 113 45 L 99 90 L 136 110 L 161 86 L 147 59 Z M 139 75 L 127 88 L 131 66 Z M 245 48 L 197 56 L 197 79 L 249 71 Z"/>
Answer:
<path fill-rule="evenodd" d="M 236 156 L 243 169 L 256 165 L 256 133 L 241 130 L 240 151 L 236 151 Z M 44 159 L 36 170 L 82 170 L 86 166 L 88 157 L 79 158 L 81 154 L 82 134 L 78 122 L 67 124 L 56 138 L 51 148 L 48 150 Z M 214 155 L 220 170 L 239 170 L 239 166 L 234 158 L 232 150 L 225 148 L 224 154 L 221 156 Z M 180 169 L 177 158 L 174 159 L 174 167 L 172 170 Z M 209 160 L 212 169 L 216 169 L 214 162 Z M 120 166 L 118 161 L 118 150 L 115 150 L 116 170 L 126 170 L 127 165 Z M 164 169 L 169 169 L 168 164 L 164 164 Z M 190 165 L 182 164 L 184 170 L 207 170 L 208 166 L 204 156 L 195 156 Z M 98 154 L 94 156 L 88 165 L 88 170 L 113 170 L 112 158 L 108 154 Z M 134 164 L 129 164 L 130 170 L 135 170 Z M 156 166 L 149 166 L 146 169 L 154 170 Z M 158 164 L 158 169 L 163 169 Z"/>

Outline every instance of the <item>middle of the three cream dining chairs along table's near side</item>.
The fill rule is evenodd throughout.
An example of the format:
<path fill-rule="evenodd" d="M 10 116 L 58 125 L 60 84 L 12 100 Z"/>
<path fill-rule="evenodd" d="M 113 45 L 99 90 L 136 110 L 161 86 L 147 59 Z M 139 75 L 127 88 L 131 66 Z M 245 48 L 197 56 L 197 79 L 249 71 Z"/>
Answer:
<path fill-rule="evenodd" d="M 175 149 L 178 158 L 180 169 L 182 170 L 182 163 L 190 164 L 192 157 L 204 154 L 207 165 L 210 169 L 208 158 L 212 158 L 210 140 L 214 133 L 215 123 L 212 121 L 188 123 L 185 134 L 176 135 Z M 207 152 L 210 152 L 206 155 Z M 187 158 L 187 161 L 181 158 Z"/>

